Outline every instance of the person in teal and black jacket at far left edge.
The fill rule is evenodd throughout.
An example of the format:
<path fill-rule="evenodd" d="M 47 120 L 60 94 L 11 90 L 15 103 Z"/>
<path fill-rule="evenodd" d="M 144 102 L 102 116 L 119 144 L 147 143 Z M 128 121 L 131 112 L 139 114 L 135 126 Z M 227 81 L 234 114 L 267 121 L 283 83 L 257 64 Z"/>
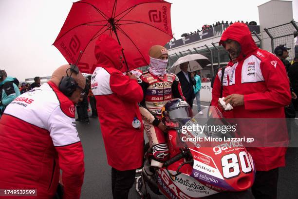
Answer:
<path fill-rule="evenodd" d="M 2 89 L 0 101 L 0 116 L 4 112 L 6 106 L 15 100 L 19 95 L 19 80 L 7 77 L 5 70 L 0 70 L 0 88 Z"/>

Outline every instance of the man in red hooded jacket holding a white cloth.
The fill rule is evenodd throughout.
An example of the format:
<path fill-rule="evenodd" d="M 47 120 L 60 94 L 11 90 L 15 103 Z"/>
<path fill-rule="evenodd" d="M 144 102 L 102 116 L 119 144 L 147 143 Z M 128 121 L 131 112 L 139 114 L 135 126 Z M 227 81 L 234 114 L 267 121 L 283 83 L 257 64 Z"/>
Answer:
<path fill-rule="evenodd" d="M 287 136 L 285 125 L 278 125 L 258 118 L 284 120 L 284 106 L 290 104 L 291 93 L 286 70 L 272 53 L 261 50 L 255 44 L 246 24 L 234 23 L 222 35 L 220 45 L 237 59 L 229 70 L 228 93 L 225 102 L 230 103 L 234 118 L 254 118 L 255 125 L 239 124 L 240 132 L 267 135 L 267 139 Z M 279 124 L 282 122 L 279 122 Z M 282 123 L 285 124 L 285 123 Z M 267 126 L 266 126 L 267 125 Z M 263 129 L 264 131 L 260 131 Z M 258 140 L 257 140 L 258 141 Z M 256 198 L 276 199 L 278 168 L 285 166 L 283 147 L 254 147 L 247 149 L 256 164 L 256 180 L 252 192 Z"/>

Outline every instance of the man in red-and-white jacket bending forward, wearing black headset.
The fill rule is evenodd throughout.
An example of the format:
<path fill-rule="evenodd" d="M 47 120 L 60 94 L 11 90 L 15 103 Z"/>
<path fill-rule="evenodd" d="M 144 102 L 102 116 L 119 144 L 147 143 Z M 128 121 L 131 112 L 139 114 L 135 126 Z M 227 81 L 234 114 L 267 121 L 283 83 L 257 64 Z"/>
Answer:
<path fill-rule="evenodd" d="M 0 119 L 1 189 L 36 189 L 36 196 L 20 198 L 53 199 L 61 169 L 63 199 L 80 198 L 84 154 L 74 103 L 82 100 L 85 83 L 76 66 L 63 65 L 48 83 L 6 107 Z"/>

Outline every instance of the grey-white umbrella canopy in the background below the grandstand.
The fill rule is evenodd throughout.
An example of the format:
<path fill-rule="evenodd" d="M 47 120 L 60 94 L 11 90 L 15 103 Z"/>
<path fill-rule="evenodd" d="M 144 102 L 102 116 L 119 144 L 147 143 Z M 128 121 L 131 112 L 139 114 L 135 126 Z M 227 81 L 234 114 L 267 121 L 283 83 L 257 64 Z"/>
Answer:
<path fill-rule="evenodd" d="M 179 65 L 181 63 L 188 62 L 188 72 L 193 72 L 196 70 L 202 70 L 206 65 L 211 63 L 208 58 L 206 58 L 203 55 L 200 54 L 191 54 L 191 55 L 186 55 L 182 58 L 179 58 L 173 66 L 170 68 L 170 72 L 177 74 L 181 71 Z"/>

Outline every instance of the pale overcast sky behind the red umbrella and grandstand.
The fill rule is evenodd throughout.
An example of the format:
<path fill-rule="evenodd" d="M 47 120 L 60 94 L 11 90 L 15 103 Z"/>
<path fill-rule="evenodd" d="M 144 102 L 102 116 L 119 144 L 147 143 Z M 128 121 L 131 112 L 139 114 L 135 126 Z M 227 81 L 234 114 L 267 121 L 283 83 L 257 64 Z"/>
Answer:
<path fill-rule="evenodd" d="M 35 76 L 51 76 L 67 64 L 52 46 L 76 0 L 0 0 L 0 69 L 20 81 Z M 257 21 L 258 7 L 269 0 L 168 0 L 172 2 L 172 32 L 201 30 L 216 21 Z M 298 21 L 298 0 L 293 0 Z M 287 11 L 285 11 L 287 12 Z"/>

